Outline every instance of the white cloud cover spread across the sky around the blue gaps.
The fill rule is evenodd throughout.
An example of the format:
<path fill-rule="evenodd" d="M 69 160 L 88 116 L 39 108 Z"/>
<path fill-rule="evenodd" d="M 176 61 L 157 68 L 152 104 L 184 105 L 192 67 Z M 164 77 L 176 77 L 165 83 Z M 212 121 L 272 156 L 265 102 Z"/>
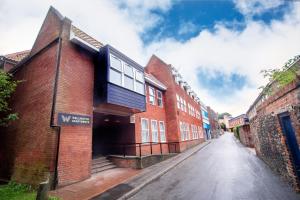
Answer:
<path fill-rule="evenodd" d="M 259 71 L 281 66 L 300 52 L 299 3 L 294 3 L 282 21 L 274 20 L 269 25 L 250 19 L 244 30 L 237 31 L 218 23 L 214 32 L 203 30 L 185 42 L 165 38 L 147 46 L 142 42 L 141 33 L 162 20 L 152 11 L 167 12 L 172 2 L 128 0 L 125 3 L 108 0 L 86 0 L 84 3 L 4 0 L 0 7 L 0 54 L 30 49 L 52 4 L 85 32 L 103 43 L 112 44 L 142 65 L 155 53 L 180 68 L 184 78 L 207 105 L 219 112 L 238 115 L 247 110 L 258 95 L 257 88 L 264 83 Z M 267 5 L 264 9 L 272 8 L 269 4 L 264 5 Z M 248 8 L 243 9 L 245 14 L 251 13 Z M 196 76 L 199 68 L 246 75 L 250 86 L 233 93 L 231 98 L 212 96 L 199 85 Z"/>

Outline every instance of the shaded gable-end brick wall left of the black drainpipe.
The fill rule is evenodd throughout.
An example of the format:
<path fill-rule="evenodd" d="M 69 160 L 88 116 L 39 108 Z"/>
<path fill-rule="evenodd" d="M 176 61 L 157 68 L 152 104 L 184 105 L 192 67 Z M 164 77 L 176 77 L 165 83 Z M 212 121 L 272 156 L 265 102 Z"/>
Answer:
<path fill-rule="evenodd" d="M 38 184 L 53 178 L 57 132 L 50 127 L 60 17 L 49 10 L 29 61 L 14 73 L 22 80 L 12 96 L 11 107 L 19 119 L 1 131 L 1 177 Z M 47 30 L 47 31 L 45 31 Z M 42 50 L 43 49 L 43 50 Z M 41 51 L 42 50 L 42 51 Z"/>

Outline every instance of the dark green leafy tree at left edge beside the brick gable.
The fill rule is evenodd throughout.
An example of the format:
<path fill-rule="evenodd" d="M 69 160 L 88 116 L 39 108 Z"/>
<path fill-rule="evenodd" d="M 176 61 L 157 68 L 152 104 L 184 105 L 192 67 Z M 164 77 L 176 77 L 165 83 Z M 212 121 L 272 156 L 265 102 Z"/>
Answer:
<path fill-rule="evenodd" d="M 10 121 L 18 119 L 17 113 L 10 113 L 9 99 L 20 81 L 12 79 L 12 75 L 0 70 L 0 126 L 8 126 Z"/>

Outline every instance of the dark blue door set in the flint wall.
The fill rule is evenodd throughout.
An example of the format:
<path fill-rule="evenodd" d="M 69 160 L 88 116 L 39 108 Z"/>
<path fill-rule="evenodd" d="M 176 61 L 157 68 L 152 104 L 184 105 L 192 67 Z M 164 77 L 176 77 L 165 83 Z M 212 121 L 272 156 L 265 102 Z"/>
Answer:
<path fill-rule="evenodd" d="M 286 136 L 288 148 L 292 154 L 298 177 L 300 177 L 300 151 L 291 118 L 288 113 L 279 115 L 282 131 Z"/>

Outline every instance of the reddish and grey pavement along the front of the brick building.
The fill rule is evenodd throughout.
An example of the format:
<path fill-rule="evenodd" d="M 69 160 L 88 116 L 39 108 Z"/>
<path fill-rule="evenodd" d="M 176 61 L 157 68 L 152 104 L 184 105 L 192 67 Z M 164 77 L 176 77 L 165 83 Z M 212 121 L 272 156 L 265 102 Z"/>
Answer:
<path fill-rule="evenodd" d="M 126 199 L 209 143 L 204 142 L 142 170 L 115 168 L 103 171 L 87 180 L 50 191 L 49 195 L 60 197 L 63 200 Z"/>

